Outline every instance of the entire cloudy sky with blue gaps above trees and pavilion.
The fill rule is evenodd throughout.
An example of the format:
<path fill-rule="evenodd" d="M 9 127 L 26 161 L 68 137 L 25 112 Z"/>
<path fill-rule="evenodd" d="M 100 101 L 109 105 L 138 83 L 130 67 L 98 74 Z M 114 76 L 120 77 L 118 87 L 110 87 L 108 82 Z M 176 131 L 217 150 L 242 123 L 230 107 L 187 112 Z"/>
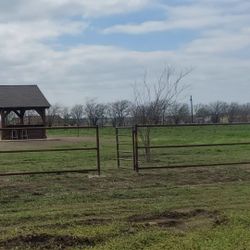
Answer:
<path fill-rule="evenodd" d="M 0 0 L 0 84 L 106 102 L 172 65 L 193 68 L 186 101 L 250 102 L 249 13 L 249 0 Z"/>

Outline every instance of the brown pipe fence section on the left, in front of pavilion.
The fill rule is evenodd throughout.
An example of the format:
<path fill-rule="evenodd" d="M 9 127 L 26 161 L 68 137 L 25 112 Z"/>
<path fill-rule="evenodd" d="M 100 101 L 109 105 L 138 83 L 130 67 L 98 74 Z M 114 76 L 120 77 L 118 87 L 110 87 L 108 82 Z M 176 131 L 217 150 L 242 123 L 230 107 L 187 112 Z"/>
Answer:
<path fill-rule="evenodd" d="M 97 172 L 100 175 L 101 172 L 101 162 L 100 162 L 100 139 L 99 139 L 99 127 L 98 126 L 78 126 L 78 127 L 18 127 L 14 128 L 17 131 L 17 134 L 20 134 L 21 131 L 25 130 L 26 134 L 29 131 L 37 130 L 37 129 L 46 129 L 47 131 L 53 130 L 76 130 L 77 136 L 79 136 L 80 130 L 94 130 L 95 131 L 95 145 L 93 147 L 69 147 L 69 148 L 43 148 L 43 149 L 24 149 L 24 150 L 0 150 L 0 155 L 2 154 L 17 154 L 17 153 L 43 153 L 43 152 L 73 152 L 73 151 L 89 151 L 96 152 L 96 167 L 89 169 L 69 169 L 69 170 L 51 170 L 51 171 L 20 171 L 20 172 L 0 172 L 0 176 L 15 176 L 15 175 L 37 175 L 37 174 L 63 174 L 63 173 L 88 173 L 88 172 Z M 0 132 L 13 131 L 13 128 L 0 128 Z M 25 138 L 23 140 L 29 140 Z M 40 139 L 38 139 L 40 140 Z M 46 140 L 46 139 L 45 139 Z M 18 141 L 17 139 L 13 139 L 11 141 Z M 1 161 L 1 160 L 0 160 Z"/>

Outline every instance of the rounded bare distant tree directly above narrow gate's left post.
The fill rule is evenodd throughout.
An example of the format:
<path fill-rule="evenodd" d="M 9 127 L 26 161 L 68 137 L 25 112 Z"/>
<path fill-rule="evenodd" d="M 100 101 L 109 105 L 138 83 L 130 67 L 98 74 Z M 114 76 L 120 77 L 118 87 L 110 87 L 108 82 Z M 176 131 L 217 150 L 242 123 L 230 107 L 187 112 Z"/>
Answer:
<path fill-rule="evenodd" d="M 108 105 L 107 111 L 113 127 L 125 126 L 125 119 L 130 114 L 131 102 L 127 100 L 116 101 Z"/>

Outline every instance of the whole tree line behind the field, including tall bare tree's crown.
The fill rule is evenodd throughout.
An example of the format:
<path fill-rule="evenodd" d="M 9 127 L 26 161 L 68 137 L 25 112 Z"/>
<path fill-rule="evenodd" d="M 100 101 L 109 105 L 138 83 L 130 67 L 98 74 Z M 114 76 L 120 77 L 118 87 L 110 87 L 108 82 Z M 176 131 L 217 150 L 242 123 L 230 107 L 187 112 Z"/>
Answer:
<path fill-rule="evenodd" d="M 48 125 L 129 126 L 134 124 L 181 124 L 248 122 L 250 103 L 197 104 L 180 102 L 180 96 L 189 87 L 185 78 L 192 69 L 177 70 L 166 65 L 157 78 L 145 73 L 142 81 L 134 85 L 133 101 L 119 100 L 111 103 L 90 99 L 72 108 L 52 105 L 48 110 Z M 191 114 L 193 110 L 194 114 Z M 193 118 L 193 119 L 192 119 Z"/>

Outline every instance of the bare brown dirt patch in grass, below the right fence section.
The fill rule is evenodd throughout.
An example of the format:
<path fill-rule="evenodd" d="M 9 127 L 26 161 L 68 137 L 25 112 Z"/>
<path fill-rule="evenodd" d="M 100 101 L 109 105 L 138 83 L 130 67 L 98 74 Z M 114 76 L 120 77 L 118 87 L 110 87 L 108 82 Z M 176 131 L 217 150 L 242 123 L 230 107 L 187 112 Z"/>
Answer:
<path fill-rule="evenodd" d="M 158 215 L 135 215 L 128 218 L 129 222 L 144 226 L 167 228 L 196 228 L 217 226 L 227 222 L 227 218 L 219 211 L 195 209 L 188 211 L 166 211 Z"/>

